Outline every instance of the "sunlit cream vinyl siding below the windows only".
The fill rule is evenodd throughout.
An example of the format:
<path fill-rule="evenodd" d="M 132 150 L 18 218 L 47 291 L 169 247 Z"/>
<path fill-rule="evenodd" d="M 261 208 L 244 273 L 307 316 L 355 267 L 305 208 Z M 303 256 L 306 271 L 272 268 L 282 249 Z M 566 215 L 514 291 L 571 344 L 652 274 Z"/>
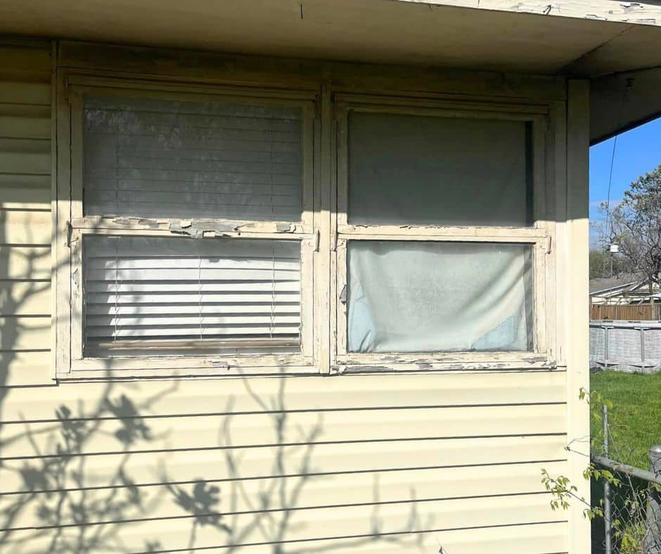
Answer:
<path fill-rule="evenodd" d="M 13 439 L 2 453 L 2 492 L 25 490 L 30 475 L 46 477 L 41 486 L 58 491 L 0 496 L 2 510 L 32 507 L 19 510 L 7 544 L 20 552 L 46 548 L 55 528 L 25 539 L 37 532 L 30 527 L 49 527 L 47 517 L 35 517 L 36 506 L 52 507 L 58 498 L 65 508 L 56 527 L 70 540 L 79 524 L 69 503 L 84 498 L 86 535 L 113 529 L 131 552 L 157 540 L 185 549 L 194 517 L 176 495 L 193 494 L 203 479 L 205 487 L 219 487 L 219 503 L 209 507 L 223 514 L 219 521 L 250 532 L 231 539 L 214 525 L 198 525 L 198 547 L 362 536 L 347 551 L 378 552 L 377 539 L 364 539 L 377 526 L 402 541 L 400 551 L 413 551 L 417 539 L 409 532 L 416 532 L 428 548 L 447 536 L 456 551 L 468 552 L 477 531 L 451 529 L 477 527 L 480 541 L 493 536 L 497 545 L 503 526 L 515 525 L 549 534 L 556 544 L 549 551 L 565 550 L 565 518 L 548 508 L 540 480 L 541 468 L 565 466 L 562 371 L 375 377 L 18 389 L 4 406 L 3 432 Z M 73 441 L 66 458 L 53 453 L 53 445 L 72 441 L 75 427 L 58 420 L 61 406 L 84 418 L 81 442 Z M 68 470 L 57 477 L 53 465 L 63 459 Z M 117 492 L 120 468 L 140 485 L 127 486 L 140 503 L 108 513 L 100 507 L 109 496 L 129 493 Z M 285 522 L 283 532 L 251 529 L 255 520 L 264 527 Z M 343 541 L 351 544 L 342 539 L 338 548 Z M 512 551 L 530 552 L 530 544 Z"/>

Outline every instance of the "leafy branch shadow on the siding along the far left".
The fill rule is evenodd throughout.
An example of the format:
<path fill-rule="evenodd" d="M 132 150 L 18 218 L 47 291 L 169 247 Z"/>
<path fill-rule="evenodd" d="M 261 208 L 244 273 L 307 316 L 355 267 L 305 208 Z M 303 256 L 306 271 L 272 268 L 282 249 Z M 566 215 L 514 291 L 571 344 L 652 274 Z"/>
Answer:
<path fill-rule="evenodd" d="M 141 414 L 176 385 L 161 385 L 160 392 L 134 401 L 130 385 L 120 391 L 107 381 L 78 385 L 93 397 L 58 401 L 69 391 L 50 381 L 50 340 L 44 341 L 56 323 L 48 313 L 51 250 L 34 235 L 31 221 L 26 217 L 15 244 L 8 211 L 0 211 L 0 550 L 125 552 L 122 526 L 114 522 L 145 517 L 160 502 L 143 498 L 128 467 L 131 451 L 157 438 Z M 30 394 L 34 402 L 26 406 L 12 399 Z M 98 449 L 110 449 L 115 460 L 101 472 L 87 467 Z"/>

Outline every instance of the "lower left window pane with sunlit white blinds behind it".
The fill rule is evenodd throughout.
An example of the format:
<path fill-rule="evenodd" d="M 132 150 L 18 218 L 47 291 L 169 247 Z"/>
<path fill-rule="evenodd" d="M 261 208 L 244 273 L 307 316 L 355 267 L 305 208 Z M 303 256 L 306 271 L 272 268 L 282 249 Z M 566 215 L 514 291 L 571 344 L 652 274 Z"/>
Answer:
<path fill-rule="evenodd" d="M 88 236 L 83 250 L 88 354 L 300 351 L 296 240 Z"/>

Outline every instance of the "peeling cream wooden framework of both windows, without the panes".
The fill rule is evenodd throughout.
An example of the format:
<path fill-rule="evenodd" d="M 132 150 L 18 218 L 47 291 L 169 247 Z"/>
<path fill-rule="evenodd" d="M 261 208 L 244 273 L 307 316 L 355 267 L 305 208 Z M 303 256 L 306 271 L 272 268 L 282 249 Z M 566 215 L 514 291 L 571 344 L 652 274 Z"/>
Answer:
<path fill-rule="evenodd" d="M 564 145 L 558 143 L 554 103 L 503 101 L 486 96 L 449 94 L 387 94 L 334 90 L 312 80 L 302 89 L 282 86 L 278 79 L 266 88 L 200 82 L 184 84 L 168 77 L 127 77 L 117 71 L 60 67 L 56 72 L 56 179 L 53 215 L 56 319 L 55 378 L 60 380 L 177 378 L 241 375 L 297 375 L 381 371 L 470 371 L 556 368 L 556 223 L 564 191 L 556 190 Z M 82 95 L 112 91 L 120 96 L 182 100 L 271 102 L 304 107 L 304 181 L 300 222 L 195 219 L 185 227 L 162 219 L 84 217 L 82 214 Z M 349 110 L 394 112 L 443 117 L 532 122 L 533 222 L 527 227 L 365 226 L 347 223 L 347 122 Z M 549 125 L 548 122 L 555 123 Z M 553 129 L 549 129 L 553 127 Z M 560 132 L 560 138 L 562 138 Z M 307 156 L 307 158 L 306 158 Z M 559 165 L 558 165 L 559 164 Z M 561 181 L 561 179 L 560 179 Z M 560 182 L 559 181 L 559 182 Z M 131 356 L 82 358 L 82 237 L 89 233 L 117 236 L 179 236 L 181 240 L 275 238 L 301 242 L 302 343 L 300 355 L 241 354 L 224 356 Z M 183 235 L 195 234 L 200 239 Z M 346 313 L 340 300 L 346 283 L 348 240 L 447 240 L 527 243 L 534 257 L 534 352 L 449 352 L 430 354 L 347 353 Z M 553 248 L 552 248 L 553 246 Z M 562 262 L 562 259 L 560 259 Z M 305 275 L 305 276 L 304 276 Z M 77 281 L 76 281 L 77 279 Z M 304 323 L 307 321 L 307 325 Z M 538 336 L 537 336 L 538 335 Z M 344 342 L 343 342 L 344 341 Z"/>

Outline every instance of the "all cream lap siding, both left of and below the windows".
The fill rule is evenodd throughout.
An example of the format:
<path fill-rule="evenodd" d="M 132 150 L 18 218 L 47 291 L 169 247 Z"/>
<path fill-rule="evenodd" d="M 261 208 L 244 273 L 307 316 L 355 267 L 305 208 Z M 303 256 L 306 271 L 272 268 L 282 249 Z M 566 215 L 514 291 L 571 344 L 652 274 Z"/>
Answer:
<path fill-rule="evenodd" d="M 0 551 L 567 551 L 562 371 L 52 385 L 49 64 L 0 48 Z"/>

